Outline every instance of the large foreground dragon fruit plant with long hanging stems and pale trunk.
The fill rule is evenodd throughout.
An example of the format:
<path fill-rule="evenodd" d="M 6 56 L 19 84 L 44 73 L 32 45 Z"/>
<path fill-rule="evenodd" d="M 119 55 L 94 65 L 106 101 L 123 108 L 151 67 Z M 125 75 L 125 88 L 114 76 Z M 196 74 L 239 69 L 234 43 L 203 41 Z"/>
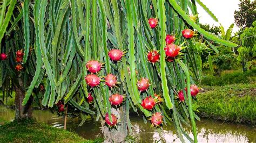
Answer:
<path fill-rule="evenodd" d="M 193 38 L 186 38 L 183 30 L 192 29 L 225 46 L 237 45 L 206 32 L 190 19 L 189 11 L 197 15 L 195 1 L 10 3 L 22 7 L 12 10 L 9 17 L 21 15 L 23 19 L 19 19 L 23 21 L 19 25 L 15 21 L 5 22 L 10 25 L 6 28 L 15 25 L 22 31 L 16 40 L 22 41 L 24 67 L 30 68 L 27 64 L 33 61 L 33 70 L 26 71 L 32 75 L 28 76 L 30 85 L 23 105 L 29 103 L 31 95 L 37 96 L 35 88 L 43 82 L 45 91 L 39 100 L 43 106 L 72 106 L 80 112 L 80 125 L 88 115 L 95 117 L 102 121 L 106 141 L 125 140 L 132 131 L 131 110 L 149 119 L 159 130 L 173 124 L 182 142 L 197 142 L 195 118 L 200 118 L 192 110 L 191 73 L 200 78 L 198 55 L 191 48 Z M 2 32 L 7 36 L 6 28 L 2 32 L 1 27 L 0 35 Z M 9 31 L 14 32 L 11 28 Z M 170 44 L 166 43 L 167 34 L 175 36 Z M 28 53 L 30 46 L 33 56 Z M 2 43 L 2 49 L 10 47 Z M 167 54 L 170 48 L 175 48 L 178 54 Z M 157 55 L 154 62 L 150 60 L 152 52 Z M 178 94 L 181 91 L 183 97 Z M 192 138 L 183 126 L 191 126 Z"/>

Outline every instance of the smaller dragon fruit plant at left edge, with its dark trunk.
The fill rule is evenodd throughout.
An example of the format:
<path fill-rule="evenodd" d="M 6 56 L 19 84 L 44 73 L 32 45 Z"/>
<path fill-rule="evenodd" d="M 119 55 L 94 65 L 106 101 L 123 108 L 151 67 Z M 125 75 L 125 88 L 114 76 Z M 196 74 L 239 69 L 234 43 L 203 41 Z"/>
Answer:
<path fill-rule="evenodd" d="M 32 96 L 28 99 L 28 104 L 22 105 L 25 91 L 30 85 L 32 77 L 35 75 L 36 56 L 30 47 L 33 42 L 33 25 L 28 15 L 22 9 L 23 3 L 17 1 L 0 1 L 0 87 L 2 88 L 2 101 L 11 97 L 15 91 L 15 111 L 16 119 L 31 118 L 33 101 Z M 25 3 L 28 7 L 29 3 Z M 29 11 L 26 11 L 28 14 Z M 23 26 L 31 28 L 31 37 L 23 34 Z M 41 73 L 43 74 L 43 73 Z M 42 80 L 43 75 L 41 75 Z M 39 83 L 36 84 L 34 93 L 35 99 L 40 97 Z M 11 97 L 12 98 L 12 97 Z M 37 102 L 38 103 L 38 102 Z"/>

